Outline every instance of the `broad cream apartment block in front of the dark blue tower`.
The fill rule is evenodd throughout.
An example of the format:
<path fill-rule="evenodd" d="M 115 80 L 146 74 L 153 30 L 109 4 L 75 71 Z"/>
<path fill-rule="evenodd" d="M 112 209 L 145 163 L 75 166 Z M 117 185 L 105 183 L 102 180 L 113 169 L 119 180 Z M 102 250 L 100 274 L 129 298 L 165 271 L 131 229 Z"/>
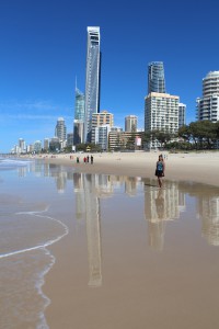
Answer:
<path fill-rule="evenodd" d="M 163 131 L 176 134 L 178 131 L 178 100 L 177 95 L 151 92 L 145 99 L 145 132 Z M 151 140 L 149 148 L 160 145 Z"/>

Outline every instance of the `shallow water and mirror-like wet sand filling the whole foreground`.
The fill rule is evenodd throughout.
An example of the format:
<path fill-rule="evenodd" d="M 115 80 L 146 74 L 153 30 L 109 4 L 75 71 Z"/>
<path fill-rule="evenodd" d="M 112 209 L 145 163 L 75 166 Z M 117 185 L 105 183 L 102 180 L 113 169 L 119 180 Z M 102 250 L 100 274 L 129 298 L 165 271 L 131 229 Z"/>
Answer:
<path fill-rule="evenodd" d="M 0 191 L 0 328 L 218 327 L 219 189 L 1 161 Z"/>

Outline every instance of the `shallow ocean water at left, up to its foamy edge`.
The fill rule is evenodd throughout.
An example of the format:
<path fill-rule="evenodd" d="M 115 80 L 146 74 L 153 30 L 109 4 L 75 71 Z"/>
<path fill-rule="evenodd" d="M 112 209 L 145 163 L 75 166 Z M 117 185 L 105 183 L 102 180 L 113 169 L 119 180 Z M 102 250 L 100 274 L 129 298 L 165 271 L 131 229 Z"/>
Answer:
<path fill-rule="evenodd" d="M 2 329 L 48 328 L 44 309 L 50 300 L 44 295 L 42 286 L 46 273 L 55 263 L 55 257 L 47 247 L 67 235 L 68 227 L 48 215 L 56 195 L 46 197 L 46 193 L 53 194 L 53 185 L 42 193 L 44 178 L 38 174 L 38 169 L 31 161 L 0 160 Z"/>

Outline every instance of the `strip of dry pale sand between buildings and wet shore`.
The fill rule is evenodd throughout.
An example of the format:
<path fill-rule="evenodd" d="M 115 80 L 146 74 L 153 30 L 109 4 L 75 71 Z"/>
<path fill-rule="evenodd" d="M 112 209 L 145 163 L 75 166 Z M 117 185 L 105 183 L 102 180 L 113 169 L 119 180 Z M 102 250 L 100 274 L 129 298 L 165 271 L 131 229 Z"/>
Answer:
<path fill-rule="evenodd" d="M 28 159 L 41 159 L 46 163 L 72 166 L 79 172 L 118 174 L 155 179 L 154 170 L 160 151 L 103 152 L 92 154 L 93 164 L 84 163 L 83 157 L 91 154 L 59 154 L 33 156 Z M 169 181 L 191 181 L 219 186 L 219 151 L 170 154 L 165 157 L 165 178 Z M 77 157 L 80 162 L 77 163 Z M 22 158 L 26 158 L 22 156 Z"/>

